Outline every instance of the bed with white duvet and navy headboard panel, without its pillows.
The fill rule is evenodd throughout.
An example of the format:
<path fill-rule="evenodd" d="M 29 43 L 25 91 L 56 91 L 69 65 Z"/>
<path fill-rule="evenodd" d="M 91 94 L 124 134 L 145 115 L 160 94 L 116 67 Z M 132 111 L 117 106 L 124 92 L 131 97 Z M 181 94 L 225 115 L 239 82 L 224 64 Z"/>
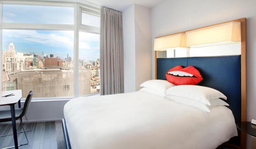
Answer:
<path fill-rule="evenodd" d="M 72 149 L 215 149 L 228 141 L 240 146 L 241 56 L 157 58 L 157 79 L 168 69 L 195 66 L 229 107 L 207 113 L 144 92 L 80 97 L 64 107 L 66 146 Z"/>

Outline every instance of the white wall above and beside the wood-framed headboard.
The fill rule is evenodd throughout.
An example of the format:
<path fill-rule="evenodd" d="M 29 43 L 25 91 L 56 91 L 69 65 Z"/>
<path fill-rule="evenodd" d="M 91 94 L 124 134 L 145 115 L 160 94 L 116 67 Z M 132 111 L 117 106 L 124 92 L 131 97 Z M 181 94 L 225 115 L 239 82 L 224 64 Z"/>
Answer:
<path fill-rule="evenodd" d="M 165 0 L 151 8 L 155 37 L 247 18 L 247 121 L 256 119 L 256 0 Z M 153 46 L 152 46 L 153 47 Z M 152 49 L 152 70 L 155 54 Z M 155 72 L 152 71 L 152 79 Z M 250 141 L 251 137 L 247 137 Z M 250 143 L 247 143 L 250 148 Z"/>

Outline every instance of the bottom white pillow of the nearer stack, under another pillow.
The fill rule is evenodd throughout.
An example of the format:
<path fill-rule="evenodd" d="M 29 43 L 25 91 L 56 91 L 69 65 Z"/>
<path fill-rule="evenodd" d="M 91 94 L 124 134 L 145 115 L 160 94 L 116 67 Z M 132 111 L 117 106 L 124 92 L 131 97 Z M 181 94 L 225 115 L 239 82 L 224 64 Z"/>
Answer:
<path fill-rule="evenodd" d="M 174 101 L 176 103 L 181 103 L 181 104 L 185 104 L 185 105 L 188 105 L 188 106 L 193 106 L 193 107 L 202 109 L 202 110 L 207 111 L 207 112 L 210 112 L 210 108 L 215 107 L 215 106 L 229 106 L 228 103 L 221 100 L 220 98 L 210 100 L 210 104 L 211 104 L 210 106 L 207 105 L 207 104 L 201 103 L 199 101 L 189 99 L 189 98 L 185 98 L 185 97 L 167 95 L 167 96 L 165 96 L 165 98 L 169 99 L 171 101 Z"/>

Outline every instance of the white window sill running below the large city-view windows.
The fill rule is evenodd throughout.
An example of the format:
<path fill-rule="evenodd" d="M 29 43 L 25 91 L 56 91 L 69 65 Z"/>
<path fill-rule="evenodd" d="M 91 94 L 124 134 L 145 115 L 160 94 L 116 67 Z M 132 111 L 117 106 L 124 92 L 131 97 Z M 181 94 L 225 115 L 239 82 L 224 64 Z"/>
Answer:
<path fill-rule="evenodd" d="M 87 95 L 81 95 L 79 97 L 91 97 L 91 96 L 99 96 L 98 93 L 93 93 L 93 94 L 87 94 Z M 47 101 L 69 101 L 74 99 L 74 96 L 69 96 L 69 97 L 45 97 L 45 98 L 33 98 L 31 102 L 47 102 Z M 76 97 L 78 98 L 78 97 Z M 25 102 L 26 98 L 21 98 L 21 102 Z"/>

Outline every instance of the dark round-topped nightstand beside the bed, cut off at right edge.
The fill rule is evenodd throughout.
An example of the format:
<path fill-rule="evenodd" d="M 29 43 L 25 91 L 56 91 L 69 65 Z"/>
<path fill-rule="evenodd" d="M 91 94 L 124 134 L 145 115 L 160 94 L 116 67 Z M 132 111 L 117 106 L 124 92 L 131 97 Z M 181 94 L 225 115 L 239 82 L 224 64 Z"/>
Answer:
<path fill-rule="evenodd" d="M 242 121 L 236 126 L 241 131 L 251 135 L 251 149 L 256 149 L 256 125 L 251 124 L 250 121 Z"/>

